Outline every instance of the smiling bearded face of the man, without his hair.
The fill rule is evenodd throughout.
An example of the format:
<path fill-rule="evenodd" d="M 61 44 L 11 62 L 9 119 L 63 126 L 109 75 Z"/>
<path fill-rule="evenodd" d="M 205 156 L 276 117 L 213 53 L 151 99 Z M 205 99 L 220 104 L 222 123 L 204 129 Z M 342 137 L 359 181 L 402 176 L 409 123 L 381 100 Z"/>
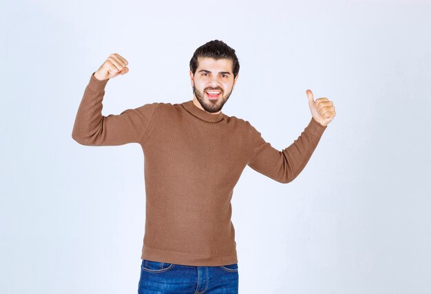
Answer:
<path fill-rule="evenodd" d="M 238 75 L 233 78 L 232 60 L 198 58 L 196 73 L 190 71 L 193 104 L 209 113 L 220 113 L 231 95 Z"/>

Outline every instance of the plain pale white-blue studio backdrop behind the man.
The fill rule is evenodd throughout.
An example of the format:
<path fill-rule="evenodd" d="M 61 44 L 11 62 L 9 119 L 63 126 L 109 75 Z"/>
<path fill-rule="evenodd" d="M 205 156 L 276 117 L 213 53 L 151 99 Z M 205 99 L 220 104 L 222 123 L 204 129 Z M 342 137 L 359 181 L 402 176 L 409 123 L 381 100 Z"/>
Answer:
<path fill-rule="evenodd" d="M 304 171 L 246 167 L 233 193 L 240 293 L 430 293 L 429 1 L 1 1 L 0 293 L 136 293 L 138 144 L 72 139 L 109 54 L 103 115 L 191 100 L 189 60 L 219 39 L 240 76 L 223 112 L 279 150 L 333 101 Z"/>

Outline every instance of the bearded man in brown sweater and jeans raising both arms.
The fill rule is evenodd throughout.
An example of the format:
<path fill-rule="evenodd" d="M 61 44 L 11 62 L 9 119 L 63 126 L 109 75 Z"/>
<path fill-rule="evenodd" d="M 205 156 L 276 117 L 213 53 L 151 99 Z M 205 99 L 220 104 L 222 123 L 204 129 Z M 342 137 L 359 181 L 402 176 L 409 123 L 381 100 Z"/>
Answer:
<path fill-rule="evenodd" d="M 143 148 L 146 218 L 138 293 L 238 293 L 233 188 L 247 165 L 280 183 L 293 181 L 335 117 L 333 102 L 314 101 L 307 90 L 311 120 L 279 151 L 249 122 L 222 113 L 240 69 L 235 50 L 222 41 L 200 46 L 191 58 L 193 100 L 103 116 L 107 81 L 127 74 L 127 64 L 111 54 L 92 74 L 72 137 L 87 146 L 134 142 Z"/>

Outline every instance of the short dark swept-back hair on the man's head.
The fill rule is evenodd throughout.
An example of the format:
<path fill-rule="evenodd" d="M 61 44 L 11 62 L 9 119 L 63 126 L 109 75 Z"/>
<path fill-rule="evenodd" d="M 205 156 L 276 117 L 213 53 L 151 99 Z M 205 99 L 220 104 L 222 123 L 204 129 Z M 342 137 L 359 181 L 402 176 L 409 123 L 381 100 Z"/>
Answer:
<path fill-rule="evenodd" d="M 235 49 L 229 47 L 223 41 L 209 41 L 208 43 L 205 43 L 196 49 L 190 60 L 190 70 L 193 75 L 196 73 L 196 69 L 198 69 L 199 57 L 210 57 L 214 58 L 215 60 L 222 58 L 230 59 L 233 63 L 233 78 L 235 79 L 235 77 L 238 75 L 238 72 L 240 72 L 240 62 L 238 61 L 238 57 L 236 57 Z"/>

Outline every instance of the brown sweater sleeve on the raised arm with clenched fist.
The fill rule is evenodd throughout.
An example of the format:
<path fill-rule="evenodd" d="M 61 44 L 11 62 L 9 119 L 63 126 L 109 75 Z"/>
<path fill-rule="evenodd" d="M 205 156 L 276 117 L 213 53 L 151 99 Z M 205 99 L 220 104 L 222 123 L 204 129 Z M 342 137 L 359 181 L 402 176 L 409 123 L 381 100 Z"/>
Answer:
<path fill-rule="evenodd" d="M 151 129 L 158 102 L 127 109 L 119 115 L 102 115 L 102 100 L 108 80 L 98 80 L 94 73 L 90 77 L 76 113 L 72 138 L 87 146 L 140 143 Z"/>

